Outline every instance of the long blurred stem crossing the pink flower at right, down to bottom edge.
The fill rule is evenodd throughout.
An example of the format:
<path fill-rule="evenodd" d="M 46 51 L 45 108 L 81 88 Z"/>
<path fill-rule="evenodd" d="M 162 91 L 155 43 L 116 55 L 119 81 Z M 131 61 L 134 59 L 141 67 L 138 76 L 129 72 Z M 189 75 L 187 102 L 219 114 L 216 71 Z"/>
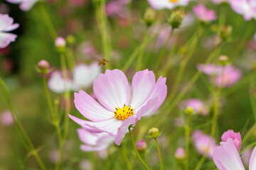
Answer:
<path fill-rule="evenodd" d="M 222 79 L 220 82 L 220 86 L 218 86 L 217 91 L 215 91 L 215 97 L 214 97 L 214 103 L 213 103 L 213 123 L 211 125 L 211 129 L 210 129 L 210 138 L 212 139 L 215 135 L 215 130 L 216 130 L 216 125 L 218 122 L 218 103 L 219 103 L 219 99 L 220 99 L 220 92 L 223 86 L 223 79 L 224 79 L 224 69 L 225 67 L 223 67 L 222 69 Z M 210 145 L 210 142 L 208 143 L 208 145 Z M 196 166 L 195 170 L 199 170 L 201 169 L 201 166 L 203 165 L 203 163 L 206 161 L 206 157 L 207 157 L 207 153 L 203 154 L 203 157 L 201 158 L 201 160 L 199 161 L 199 163 Z"/>

